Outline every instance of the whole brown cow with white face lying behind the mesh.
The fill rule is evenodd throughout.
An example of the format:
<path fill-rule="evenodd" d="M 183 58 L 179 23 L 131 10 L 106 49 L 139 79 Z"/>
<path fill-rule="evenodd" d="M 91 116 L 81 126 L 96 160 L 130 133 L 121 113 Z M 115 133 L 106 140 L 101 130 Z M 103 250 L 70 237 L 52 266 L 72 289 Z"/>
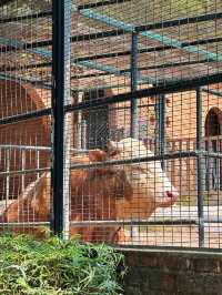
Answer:
<path fill-rule="evenodd" d="M 73 163 L 102 162 L 152 156 L 142 142 L 125 139 L 110 142 L 108 153 L 94 150 L 88 155 L 75 156 Z M 50 174 L 44 173 L 30 185 L 27 195 L 12 203 L 4 212 L 8 222 L 49 221 Z M 28 192 L 29 191 L 29 192 Z M 148 218 L 159 206 L 171 206 L 178 197 L 161 169 L 159 161 L 128 163 L 125 165 L 98 166 L 72 170 L 70 220 L 108 221 Z M 29 207 L 29 214 L 24 208 Z M 23 210 L 22 210 L 23 208 Z M 30 214 L 31 212 L 31 214 Z M 120 226 L 71 226 L 71 235 L 81 234 L 89 242 L 124 242 Z"/>

